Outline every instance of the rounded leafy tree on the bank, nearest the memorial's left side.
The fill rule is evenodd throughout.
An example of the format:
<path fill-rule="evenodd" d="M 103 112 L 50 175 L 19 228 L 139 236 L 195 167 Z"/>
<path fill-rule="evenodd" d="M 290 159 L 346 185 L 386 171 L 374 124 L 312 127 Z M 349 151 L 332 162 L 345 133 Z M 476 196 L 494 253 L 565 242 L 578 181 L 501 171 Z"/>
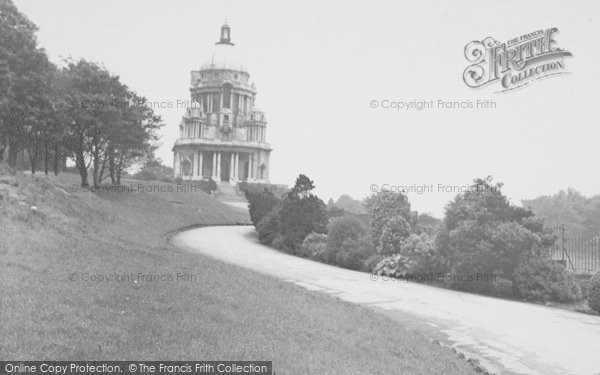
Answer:
<path fill-rule="evenodd" d="M 70 103 L 65 148 L 75 160 L 82 186 L 88 185 L 90 165 L 93 184 L 100 184 L 107 163 L 112 183 L 120 184 L 125 168 L 152 155 L 160 117 L 145 98 L 97 64 L 70 62 L 65 75 Z"/>

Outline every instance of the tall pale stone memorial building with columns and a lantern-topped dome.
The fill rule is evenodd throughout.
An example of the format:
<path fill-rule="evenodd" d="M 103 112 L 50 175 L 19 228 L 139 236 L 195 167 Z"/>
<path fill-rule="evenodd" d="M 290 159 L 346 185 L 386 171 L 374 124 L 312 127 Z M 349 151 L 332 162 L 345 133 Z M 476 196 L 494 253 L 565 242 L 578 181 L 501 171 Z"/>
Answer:
<path fill-rule="evenodd" d="M 191 74 L 191 103 L 173 146 L 175 178 L 217 183 L 269 182 L 267 121 L 240 63 L 231 29 L 221 27 L 212 57 Z"/>

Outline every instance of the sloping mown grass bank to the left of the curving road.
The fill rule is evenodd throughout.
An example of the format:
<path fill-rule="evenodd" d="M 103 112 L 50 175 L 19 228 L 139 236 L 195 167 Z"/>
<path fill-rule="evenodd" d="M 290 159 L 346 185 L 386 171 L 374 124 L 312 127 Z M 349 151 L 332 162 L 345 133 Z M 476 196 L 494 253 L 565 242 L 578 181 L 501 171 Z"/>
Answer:
<path fill-rule="evenodd" d="M 142 183 L 143 192 L 125 181 L 134 191 L 90 193 L 78 191 L 74 175 L 1 172 L 2 358 L 260 359 L 273 360 L 279 374 L 473 373 L 419 331 L 369 309 L 169 246 L 165 235 L 177 228 L 248 222 L 200 191 Z"/>

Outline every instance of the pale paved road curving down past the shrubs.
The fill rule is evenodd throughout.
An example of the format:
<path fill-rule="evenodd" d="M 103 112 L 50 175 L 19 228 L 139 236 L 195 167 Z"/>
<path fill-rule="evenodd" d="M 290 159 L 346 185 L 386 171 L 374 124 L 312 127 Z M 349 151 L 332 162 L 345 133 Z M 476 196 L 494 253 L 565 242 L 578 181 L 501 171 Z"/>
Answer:
<path fill-rule="evenodd" d="M 600 374 L 600 317 L 382 280 L 265 247 L 250 226 L 194 229 L 174 242 L 391 316 L 425 322 L 459 351 L 499 373 Z"/>

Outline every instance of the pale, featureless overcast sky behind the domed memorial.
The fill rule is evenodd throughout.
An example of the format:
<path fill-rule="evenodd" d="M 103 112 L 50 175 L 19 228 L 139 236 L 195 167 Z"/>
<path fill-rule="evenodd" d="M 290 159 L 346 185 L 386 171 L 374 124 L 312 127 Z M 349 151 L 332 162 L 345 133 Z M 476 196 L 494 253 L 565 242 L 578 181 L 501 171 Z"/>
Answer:
<path fill-rule="evenodd" d="M 311 177 L 325 200 L 371 185 L 434 185 L 410 193 L 440 216 L 454 194 L 486 175 L 514 203 L 575 188 L 600 193 L 600 2 L 578 1 L 127 1 L 16 0 L 53 61 L 104 64 L 150 101 L 171 147 L 190 70 L 212 53 L 225 18 L 267 115 L 271 180 Z M 462 81 L 465 45 L 557 27 L 573 53 L 568 75 L 496 93 Z M 496 109 L 396 111 L 371 100 L 494 100 Z"/>

